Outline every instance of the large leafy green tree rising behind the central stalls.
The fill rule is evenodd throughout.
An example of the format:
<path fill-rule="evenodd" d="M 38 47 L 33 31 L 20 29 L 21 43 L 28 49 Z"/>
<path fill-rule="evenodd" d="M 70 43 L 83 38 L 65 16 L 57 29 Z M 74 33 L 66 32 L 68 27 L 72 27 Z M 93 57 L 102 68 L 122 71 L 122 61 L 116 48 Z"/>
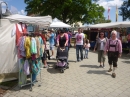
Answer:
<path fill-rule="evenodd" d="M 93 23 L 102 18 L 104 8 L 91 0 L 24 0 L 26 11 L 31 14 L 51 15 L 65 23 Z"/>

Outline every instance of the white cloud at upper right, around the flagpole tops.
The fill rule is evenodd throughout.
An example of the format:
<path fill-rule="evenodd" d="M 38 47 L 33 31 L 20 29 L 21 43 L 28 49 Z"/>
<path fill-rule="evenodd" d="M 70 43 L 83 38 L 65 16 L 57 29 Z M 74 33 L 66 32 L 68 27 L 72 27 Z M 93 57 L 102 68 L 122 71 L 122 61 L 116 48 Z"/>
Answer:
<path fill-rule="evenodd" d="M 123 4 L 123 0 L 99 0 L 97 2 L 100 6 L 103 6 L 105 10 L 108 10 L 108 7 L 112 9 L 112 7 L 118 6 L 120 7 Z"/>

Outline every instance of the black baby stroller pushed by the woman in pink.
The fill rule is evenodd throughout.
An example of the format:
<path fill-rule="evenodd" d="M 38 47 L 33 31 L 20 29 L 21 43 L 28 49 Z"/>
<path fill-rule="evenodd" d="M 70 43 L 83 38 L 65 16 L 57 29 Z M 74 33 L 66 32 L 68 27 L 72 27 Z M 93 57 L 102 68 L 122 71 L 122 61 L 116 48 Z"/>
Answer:
<path fill-rule="evenodd" d="M 68 60 L 68 49 L 66 47 L 58 47 L 57 48 L 57 63 L 55 69 L 59 68 L 61 73 L 64 73 L 64 70 L 69 68 L 67 63 Z"/>

